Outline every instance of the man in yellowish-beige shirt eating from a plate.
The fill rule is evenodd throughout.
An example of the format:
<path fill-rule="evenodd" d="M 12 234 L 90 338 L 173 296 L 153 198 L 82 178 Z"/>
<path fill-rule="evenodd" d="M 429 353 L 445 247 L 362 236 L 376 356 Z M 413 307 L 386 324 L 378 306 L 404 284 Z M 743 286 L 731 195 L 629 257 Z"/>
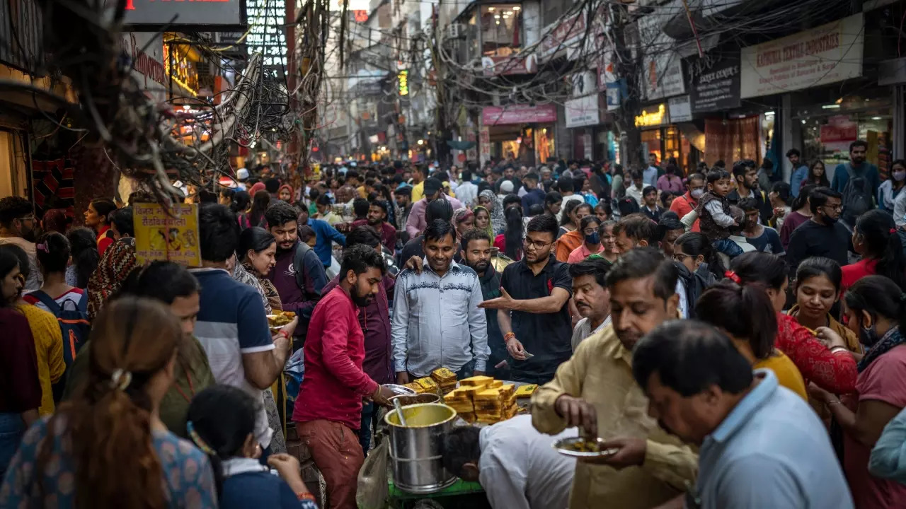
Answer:
<path fill-rule="evenodd" d="M 653 248 L 633 249 L 607 273 L 612 325 L 582 341 L 554 379 L 532 396 L 538 431 L 583 427 L 591 437 L 623 437 L 608 456 L 579 461 L 572 509 L 643 509 L 663 504 L 694 482 L 698 457 L 648 415 L 648 399 L 632 378 L 632 347 L 677 317 L 676 267 Z"/>

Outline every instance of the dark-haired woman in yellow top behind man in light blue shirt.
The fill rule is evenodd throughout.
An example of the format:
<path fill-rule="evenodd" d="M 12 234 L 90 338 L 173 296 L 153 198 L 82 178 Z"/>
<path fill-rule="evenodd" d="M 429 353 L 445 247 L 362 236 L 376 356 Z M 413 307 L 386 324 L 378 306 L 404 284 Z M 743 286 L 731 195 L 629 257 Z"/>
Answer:
<path fill-rule="evenodd" d="M 784 352 L 774 348 L 774 304 L 757 285 L 724 281 L 711 286 L 695 303 L 699 320 L 725 332 L 754 369 L 774 371 L 780 385 L 808 400 L 805 379 Z"/>

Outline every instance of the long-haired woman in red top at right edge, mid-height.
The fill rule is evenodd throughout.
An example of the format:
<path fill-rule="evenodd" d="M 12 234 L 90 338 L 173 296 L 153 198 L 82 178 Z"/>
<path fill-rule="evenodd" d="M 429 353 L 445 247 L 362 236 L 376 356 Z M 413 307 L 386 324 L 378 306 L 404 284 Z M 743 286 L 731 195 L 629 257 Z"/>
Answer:
<path fill-rule="evenodd" d="M 879 209 L 859 216 L 853 228 L 853 249 L 862 260 L 843 267 L 843 292 L 872 274 L 887 276 L 906 290 L 906 257 L 893 216 Z"/>

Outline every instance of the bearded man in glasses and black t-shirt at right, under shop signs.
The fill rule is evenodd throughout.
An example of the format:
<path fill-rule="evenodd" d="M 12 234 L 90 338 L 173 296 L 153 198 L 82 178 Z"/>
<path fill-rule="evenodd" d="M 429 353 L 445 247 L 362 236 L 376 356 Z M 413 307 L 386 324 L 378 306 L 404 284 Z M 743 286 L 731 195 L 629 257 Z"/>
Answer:
<path fill-rule="evenodd" d="M 812 218 L 793 231 L 786 246 L 790 279 L 799 262 L 811 256 L 824 256 L 843 266 L 849 264 L 852 238 L 846 226 L 837 222 L 843 211 L 843 196 L 830 187 L 815 187 L 808 197 Z"/>

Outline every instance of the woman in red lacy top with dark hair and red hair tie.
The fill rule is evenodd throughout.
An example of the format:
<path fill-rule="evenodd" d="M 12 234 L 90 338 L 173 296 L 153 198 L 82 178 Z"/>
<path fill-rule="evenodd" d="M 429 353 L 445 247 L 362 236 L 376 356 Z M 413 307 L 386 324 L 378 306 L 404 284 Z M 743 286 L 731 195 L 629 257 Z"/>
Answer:
<path fill-rule="evenodd" d="M 843 339 L 827 327 L 819 327 L 816 332 L 831 343 L 830 347 L 825 346 L 811 331 L 782 312 L 789 283 L 787 273 L 786 264 L 776 255 L 752 251 L 734 258 L 727 274 L 738 284 L 758 284 L 765 289 L 777 313 L 774 344 L 793 360 L 806 383 L 811 380 L 834 394 L 853 392 L 857 376 L 855 360 Z"/>

